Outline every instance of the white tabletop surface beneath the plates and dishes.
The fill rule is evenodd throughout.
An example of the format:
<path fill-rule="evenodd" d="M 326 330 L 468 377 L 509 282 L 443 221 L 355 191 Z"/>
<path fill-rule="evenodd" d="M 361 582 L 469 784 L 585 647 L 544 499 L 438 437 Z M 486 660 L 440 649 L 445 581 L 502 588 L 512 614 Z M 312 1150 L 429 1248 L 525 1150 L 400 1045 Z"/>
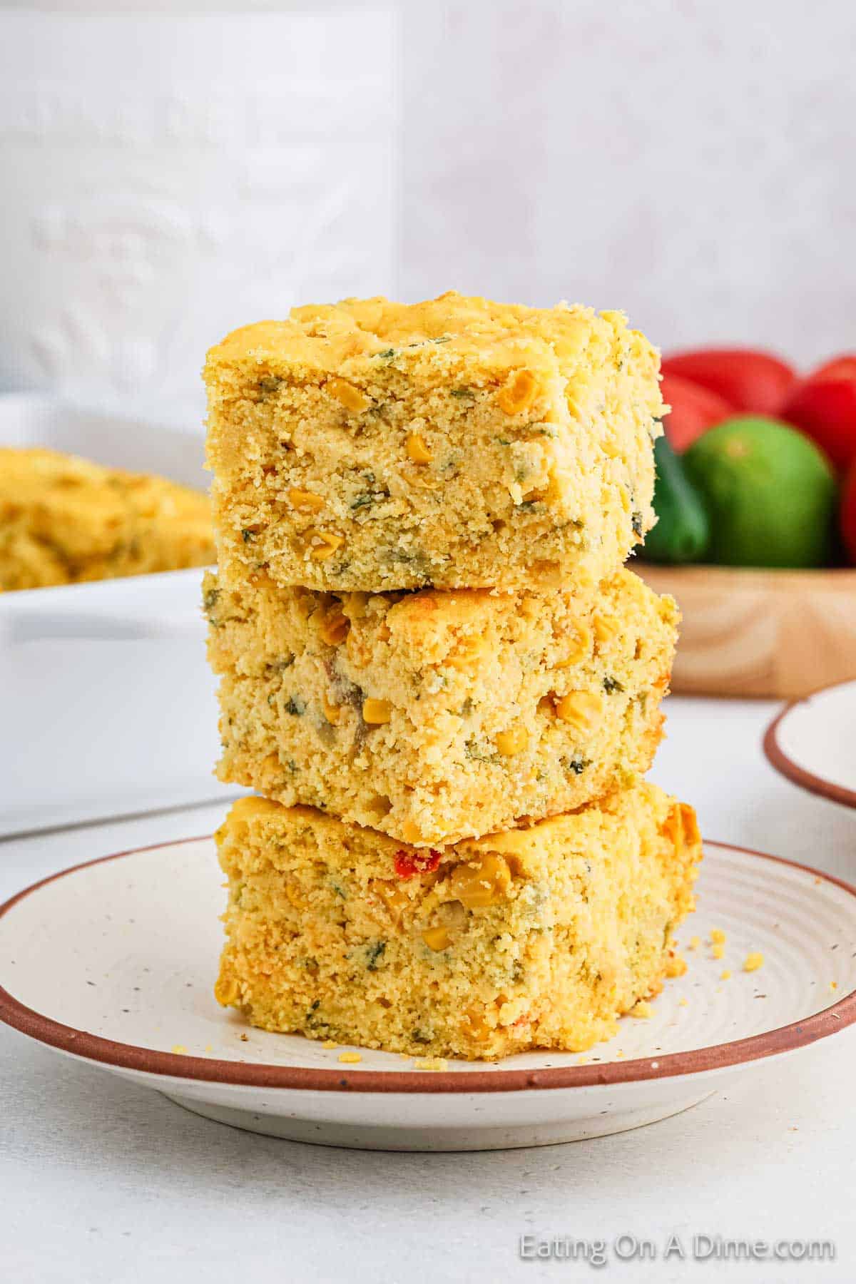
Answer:
<path fill-rule="evenodd" d="M 856 881 L 856 811 L 778 777 L 774 705 L 669 701 L 652 776 L 712 838 Z M 0 900 L 81 860 L 207 833 L 195 808 L 0 842 Z M 856 1030 L 651 1127 L 484 1154 L 325 1149 L 239 1132 L 0 1028 L 0 1278 L 9 1281 L 580 1279 L 521 1235 L 607 1243 L 599 1274 L 656 1284 L 856 1279 Z M 671 1233 L 687 1260 L 663 1261 Z M 619 1260 L 620 1235 L 657 1262 Z M 833 1262 L 693 1260 L 693 1235 L 826 1239 Z M 621 1247 L 621 1245 L 619 1245 Z M 598 1272 L 594 1271 L 594 1275 Z"/>

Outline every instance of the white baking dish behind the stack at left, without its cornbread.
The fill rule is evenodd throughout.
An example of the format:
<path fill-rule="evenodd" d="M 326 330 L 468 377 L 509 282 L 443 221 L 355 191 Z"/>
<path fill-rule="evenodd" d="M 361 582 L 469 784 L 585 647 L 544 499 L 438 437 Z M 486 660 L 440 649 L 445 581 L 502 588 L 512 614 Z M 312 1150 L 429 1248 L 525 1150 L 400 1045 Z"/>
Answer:
<path fill-rule="evenodd" d="M 204 488 L 199 433 L 0 397 L 0 444 Z M 205 664 L 201 570 L 0 594 L 0 836 L 232 796 Z"/>

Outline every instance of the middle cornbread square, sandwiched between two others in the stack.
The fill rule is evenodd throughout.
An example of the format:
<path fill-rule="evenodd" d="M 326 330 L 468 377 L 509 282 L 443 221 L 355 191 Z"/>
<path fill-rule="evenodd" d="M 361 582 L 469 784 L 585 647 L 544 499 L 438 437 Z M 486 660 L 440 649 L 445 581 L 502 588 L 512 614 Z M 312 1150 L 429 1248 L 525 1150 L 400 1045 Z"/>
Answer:
<path fill-rule="evenodd" d="M 222 781 L 415 845 L 569 811 L 651 765 L 678 610 L 597 596 L 317 593 L 209 575 Z"/>

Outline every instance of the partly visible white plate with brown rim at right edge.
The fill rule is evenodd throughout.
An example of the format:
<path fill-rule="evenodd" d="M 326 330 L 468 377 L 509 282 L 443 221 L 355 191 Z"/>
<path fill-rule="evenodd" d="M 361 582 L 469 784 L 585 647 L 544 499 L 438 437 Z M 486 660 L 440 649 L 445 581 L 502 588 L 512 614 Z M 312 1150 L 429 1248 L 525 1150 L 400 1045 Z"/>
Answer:
<path fill-rule="evenodd" d="M 794 785 L 856 808 L 856 682 L 824 687 L 787 705 L 764 751 Z"/>

